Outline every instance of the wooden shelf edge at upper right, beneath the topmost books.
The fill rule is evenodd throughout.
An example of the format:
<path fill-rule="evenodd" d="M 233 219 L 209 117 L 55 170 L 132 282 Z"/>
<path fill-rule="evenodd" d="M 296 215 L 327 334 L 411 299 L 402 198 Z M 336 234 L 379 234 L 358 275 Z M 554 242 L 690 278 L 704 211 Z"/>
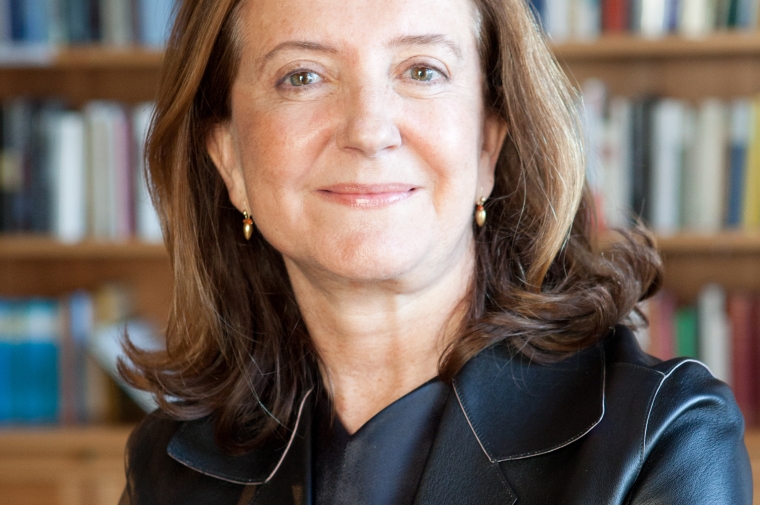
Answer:
<path fill-rule="evenodd" d="M 668 35 L 645 38 L 634 35 L 603 35 L 588 41 L 551 45 L 561 60 L 655 59 L 684 57 L 760 56 L 760 34 L 718 32 L 703 38 Z"/>

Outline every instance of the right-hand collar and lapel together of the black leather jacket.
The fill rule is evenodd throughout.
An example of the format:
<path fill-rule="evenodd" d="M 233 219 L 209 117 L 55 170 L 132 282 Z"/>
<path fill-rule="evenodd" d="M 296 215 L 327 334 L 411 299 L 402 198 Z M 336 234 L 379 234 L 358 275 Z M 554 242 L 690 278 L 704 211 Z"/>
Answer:
<path fill-rule="evenodd" d="M 513 505 L 499 463 L 578 440 L 604 415 L 604 352 L 594 346 L 538 365 L 496 345 L 457 375 L 415 505 Z"/>

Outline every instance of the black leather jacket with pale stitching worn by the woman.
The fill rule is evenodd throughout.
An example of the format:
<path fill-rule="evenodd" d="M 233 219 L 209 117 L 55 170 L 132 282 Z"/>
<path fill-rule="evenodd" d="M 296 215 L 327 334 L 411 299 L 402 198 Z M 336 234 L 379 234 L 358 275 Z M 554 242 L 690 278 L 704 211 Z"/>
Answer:
<path fill-rule="evenodd" d="M 310 399 L 294 436 L 222 454 L 208 419 L 149 416 L 123 504 L 311 503 Z M 617 327 L 553 365 L 483 351 L 457 376 L 416 505 L 750 505 L 744 423 L 701 363 L 661 362 Z"/>

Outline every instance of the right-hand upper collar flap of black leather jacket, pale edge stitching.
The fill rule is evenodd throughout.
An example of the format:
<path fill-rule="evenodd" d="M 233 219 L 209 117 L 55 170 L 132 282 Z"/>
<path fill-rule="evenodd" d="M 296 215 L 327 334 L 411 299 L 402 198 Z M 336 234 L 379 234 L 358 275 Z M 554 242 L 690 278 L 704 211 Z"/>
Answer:
<path fill-rule="evenodd" d="M 538 365 L 506 346 L 470 360 L 454 380 L 456 399 L 492 462 L 560 449 L 604 415 L 601 344 L 563 361 Z"/>

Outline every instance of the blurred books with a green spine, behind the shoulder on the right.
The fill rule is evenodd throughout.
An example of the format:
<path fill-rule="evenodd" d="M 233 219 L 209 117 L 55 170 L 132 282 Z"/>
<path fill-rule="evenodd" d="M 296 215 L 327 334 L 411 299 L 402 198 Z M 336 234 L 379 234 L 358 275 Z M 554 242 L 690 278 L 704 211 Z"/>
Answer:
<path fill-rule="evenodd" d="M 646 305 L 645 350 L 699 359 L 728 383 L 749 425 L 760 425 L 760 293 L 705 286 L 693 304 L 661 292 Z"/>

